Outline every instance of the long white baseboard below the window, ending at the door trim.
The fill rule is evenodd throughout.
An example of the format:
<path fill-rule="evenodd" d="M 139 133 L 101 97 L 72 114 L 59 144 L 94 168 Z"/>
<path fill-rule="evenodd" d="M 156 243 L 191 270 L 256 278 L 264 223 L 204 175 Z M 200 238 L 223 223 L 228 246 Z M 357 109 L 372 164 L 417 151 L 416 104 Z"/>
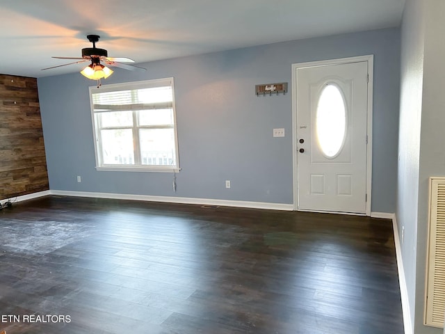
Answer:
<path fill-rule="evenodd" d="M 90 198 L 113 198 L 118 200 L 141 200 L 147 202 L 168 202 L 177 204 L 195 204 L 195 205 L 218 205 L 221 207 L 247 207 L 252 209 L 270 209 L 293 211 L 292 204 L 268 203 L 268 202 L 247 202 L 243 200 L 214 200 L 209 198 L 186 198 L 170 196 L 148 196 L 131 195 L 124 193 L 94 193 L 85 191 L 63 191 L 51 190 L 51 195 L 90 197 Z"/>

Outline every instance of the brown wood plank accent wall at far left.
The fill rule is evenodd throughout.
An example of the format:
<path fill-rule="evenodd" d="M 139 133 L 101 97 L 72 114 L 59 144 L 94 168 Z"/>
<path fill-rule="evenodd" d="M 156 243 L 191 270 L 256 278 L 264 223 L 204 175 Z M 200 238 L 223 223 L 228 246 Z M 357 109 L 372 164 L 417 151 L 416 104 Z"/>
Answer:
<path fill-rule="evenodd" d="M 0 200 L 48 189 L 37 79 L 0 74 Z"/>

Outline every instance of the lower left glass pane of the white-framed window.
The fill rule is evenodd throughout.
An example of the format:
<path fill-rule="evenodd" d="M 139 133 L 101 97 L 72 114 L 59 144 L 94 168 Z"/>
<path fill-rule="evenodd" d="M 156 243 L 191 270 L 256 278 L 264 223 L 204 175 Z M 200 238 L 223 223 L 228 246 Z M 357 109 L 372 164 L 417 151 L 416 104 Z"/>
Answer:
<path fill-rule="evenodd" d="M 103 164 L 133 165 L 133 131 L 131 129 L 101 130 Z"/>

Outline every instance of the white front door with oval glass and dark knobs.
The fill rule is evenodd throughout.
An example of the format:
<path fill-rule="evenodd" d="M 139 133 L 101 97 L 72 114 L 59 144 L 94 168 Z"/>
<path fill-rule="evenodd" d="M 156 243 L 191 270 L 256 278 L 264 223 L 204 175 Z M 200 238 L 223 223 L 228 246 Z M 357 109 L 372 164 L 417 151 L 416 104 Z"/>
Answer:
<path fill-rule="evenodd" d="M 370 214 L 369 61 L 294 70 L 298 209 Z"/>

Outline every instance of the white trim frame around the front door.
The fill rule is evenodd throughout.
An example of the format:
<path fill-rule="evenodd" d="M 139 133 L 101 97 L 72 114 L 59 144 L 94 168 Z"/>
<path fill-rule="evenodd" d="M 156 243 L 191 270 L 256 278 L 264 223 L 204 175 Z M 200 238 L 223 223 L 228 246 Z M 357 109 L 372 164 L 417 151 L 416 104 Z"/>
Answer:
<path fill-rule="evenodd" d="M 373 73 L 374 73 L 374 55 L 356 56 L 348 58 L 329 59 L 325 61 L 310 61 L 306 63 L 292 64 L 292 152 L 293 152 L 293 209 L 298 209 L 298 154 L 297 154 L 297 70 L 305 67 L 319 67 L 327 65 L 339 65 L 347 63 L 359 63 L 366 61 L 368 63 L 368 111 L 366 116 L 366 132 L 368 134 L 368 148 L 366 152 L 366 216 L 371 216 L 371 184 L 372 184 L 372 157 L 373 157 Z"/>

